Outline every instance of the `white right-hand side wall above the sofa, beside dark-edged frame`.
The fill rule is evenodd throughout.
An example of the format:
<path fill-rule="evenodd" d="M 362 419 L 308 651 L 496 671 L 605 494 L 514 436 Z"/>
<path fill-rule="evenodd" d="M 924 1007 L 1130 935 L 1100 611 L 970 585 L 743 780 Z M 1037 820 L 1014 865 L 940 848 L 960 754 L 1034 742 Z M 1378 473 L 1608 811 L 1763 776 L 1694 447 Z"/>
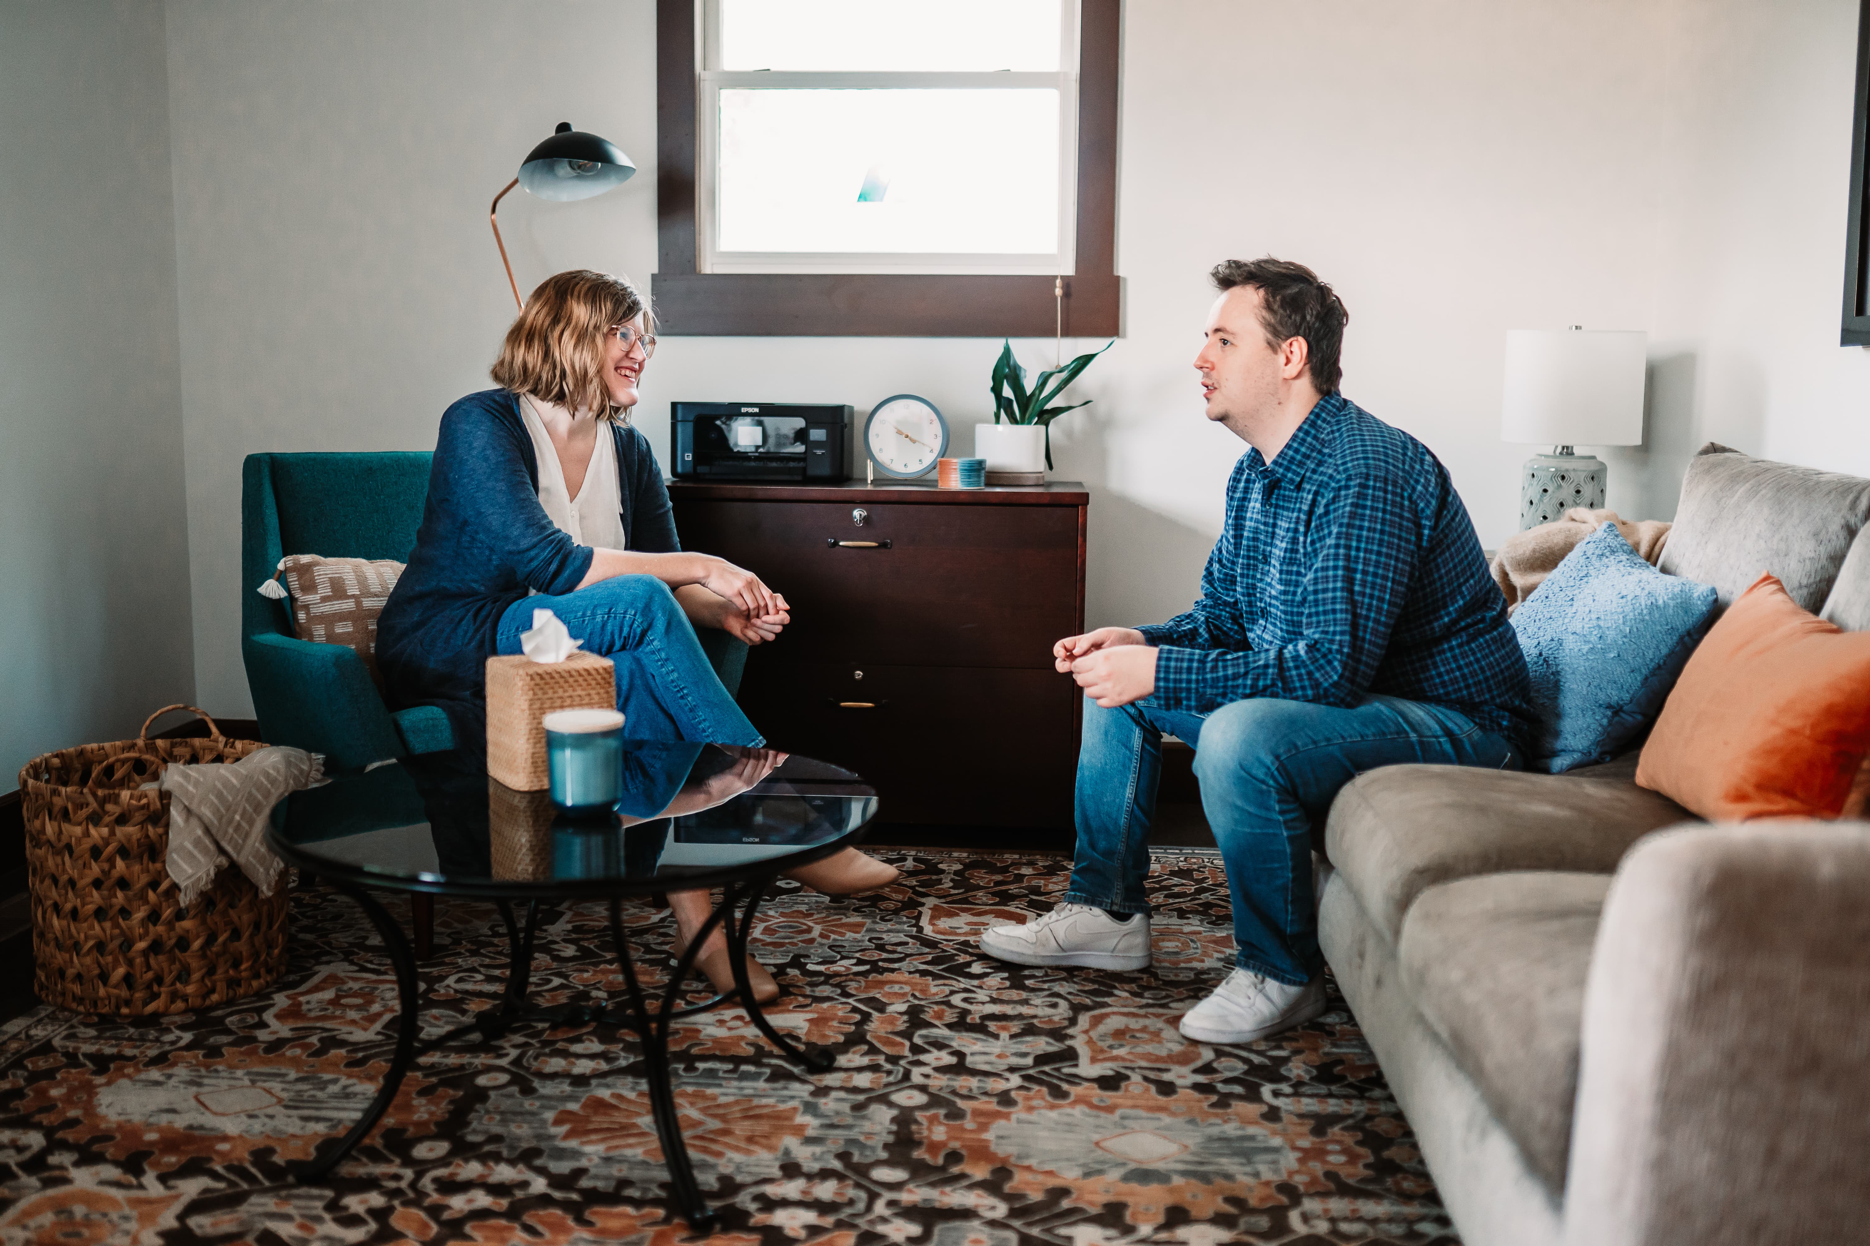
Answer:
<path fill-rule="evenodd" d="M 1711 0 L 1676 30 L 1649 325 L 1664 517 L 1704 441 L 1870 474 L 1870 351 L 1838 346 L 1857 0 Z"/>

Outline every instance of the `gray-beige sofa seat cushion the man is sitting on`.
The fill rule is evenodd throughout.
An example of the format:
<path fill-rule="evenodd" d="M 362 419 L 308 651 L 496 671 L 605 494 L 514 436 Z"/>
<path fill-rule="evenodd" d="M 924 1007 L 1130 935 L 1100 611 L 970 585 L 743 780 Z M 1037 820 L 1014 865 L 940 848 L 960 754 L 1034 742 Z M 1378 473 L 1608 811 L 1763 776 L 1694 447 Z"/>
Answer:
<path fill-rule="evenodd" d="M 1331 801 L 1326 856 L 1395 947 L 1427 887 L 1505 871 L 1608 874 L 1649 831 L 1692 820 L 1631 773 L 1629 758 L 1565 775 L 1384 766 Z"/>

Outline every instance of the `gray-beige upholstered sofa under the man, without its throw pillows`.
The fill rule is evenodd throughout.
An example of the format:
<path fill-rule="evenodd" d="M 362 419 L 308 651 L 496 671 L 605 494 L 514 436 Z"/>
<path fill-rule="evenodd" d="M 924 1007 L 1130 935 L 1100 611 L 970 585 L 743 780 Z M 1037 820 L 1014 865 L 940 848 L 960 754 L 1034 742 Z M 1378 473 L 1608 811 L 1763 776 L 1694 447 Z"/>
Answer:
<path fill-rule="evenodd" d="M 1870 628 L 1870 480 L 1709 445 L 1661 570 Z M 1870 1242 L 1870 824 L 1709 826 L 1636 753 L 1393 766 L 1320 942 L 1468 1246 Z"/>

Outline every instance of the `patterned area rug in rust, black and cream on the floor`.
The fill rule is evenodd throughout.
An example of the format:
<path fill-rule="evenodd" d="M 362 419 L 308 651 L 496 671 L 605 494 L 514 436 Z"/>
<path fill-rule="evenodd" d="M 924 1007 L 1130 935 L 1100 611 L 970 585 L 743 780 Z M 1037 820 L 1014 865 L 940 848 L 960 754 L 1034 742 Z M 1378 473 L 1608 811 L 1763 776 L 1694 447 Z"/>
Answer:
<path fill-rule="evenodd" d="M 772 1014 L 838 1067 L 795 1072 L 735 1007 L 671 1048 L 731 1246 L 1453 1242 L 1408 1125 L 1333 994 L 1318 1022 L 1210 1048 L 1174 1018 L 1227 971 L 1221 863 L 1156 857 L 1156 970 L 1021 970 L 972 947 L 1043 912 L 1058 857 L 888 852 L 899 885 L 784 884 L 757 930 Z M 393 910 L 398 912 L 398 910 Z M 505 938 L 441 900 L 424 1024 L 492 1007 Z M 668 970 L 668 913 L 626 917 Z M 0 1031 L 0 1240 L 694 1240 L 671 1216 L 632 1039 L 522 1027 L 443 1048 L 333 1179 L 294 1186 L 374 1093 L 395 983 L 348 900 L 299 891 L 275 994 L 148 1024 L 39 1009 Z M 535 1001 L 621 990 L 597 906 L 548 913 Z M 660 953 L 660 955 L 658 955 Z"/>

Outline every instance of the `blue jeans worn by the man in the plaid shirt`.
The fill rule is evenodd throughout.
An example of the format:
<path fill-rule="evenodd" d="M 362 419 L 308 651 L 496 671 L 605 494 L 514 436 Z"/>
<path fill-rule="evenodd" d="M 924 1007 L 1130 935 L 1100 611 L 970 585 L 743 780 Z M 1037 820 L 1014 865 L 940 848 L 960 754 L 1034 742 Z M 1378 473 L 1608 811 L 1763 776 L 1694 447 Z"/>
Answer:
<path fill-rule="evenodd" d="M 1311 826 L 1365 770 L 1402 762 L 1518 770 L 1518 751 L 1444 706 L 1365 697 L 1350 710 L 1253 699 L 1212 714 L 1085 699 L 1077 755 L 1077 863 L 1066 900 L 1146 913 L 1161 732 L 1195 749 L 1201 805 L 1227 865 L 1244 970 L 1294 986 L 1324 968 L 1311 884 Z"/>

